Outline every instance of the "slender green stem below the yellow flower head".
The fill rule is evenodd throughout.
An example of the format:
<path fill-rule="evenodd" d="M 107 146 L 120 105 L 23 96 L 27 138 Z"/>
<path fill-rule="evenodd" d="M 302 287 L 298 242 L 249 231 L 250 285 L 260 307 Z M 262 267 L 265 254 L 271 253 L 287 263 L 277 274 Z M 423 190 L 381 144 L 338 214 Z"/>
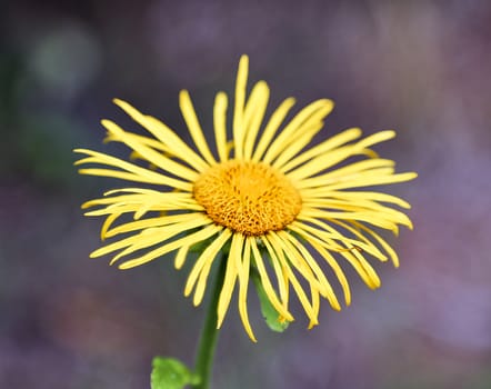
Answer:
<path fill-rule="evenodd" d="M 196 357 L 194 373 L 201 379 L 196 389 L 208 389 L 210 387 L 211 370 L 213 367 L 214 350 L 217 348 L 218 333 L 217 329 L 217 307 L 220 297 L 221 287 L 226 277 L 227 257 L 222 257 L 220 266 L 216 275 L 213 289 L 211 290 L 211 300 L 208 306 L 207 316 L 204 317 L 203 329 L 201 330 L 200 342 Z"/>

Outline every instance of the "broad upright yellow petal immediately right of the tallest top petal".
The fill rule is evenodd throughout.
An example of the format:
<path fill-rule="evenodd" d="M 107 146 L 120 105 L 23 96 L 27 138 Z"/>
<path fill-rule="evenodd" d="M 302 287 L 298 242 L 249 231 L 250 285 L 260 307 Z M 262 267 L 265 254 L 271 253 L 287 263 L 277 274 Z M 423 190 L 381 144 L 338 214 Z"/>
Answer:
<path fill-rule="evenodd" d="M 249 101 L 244 110 L 244 153 L 246 160 L 252 158 L 252 150 L 258 137 L 259 128 L 264 118 L 265 109 L 269 101 L 269 88 L 264 81 L 259 81 L 252 89 Z"/>

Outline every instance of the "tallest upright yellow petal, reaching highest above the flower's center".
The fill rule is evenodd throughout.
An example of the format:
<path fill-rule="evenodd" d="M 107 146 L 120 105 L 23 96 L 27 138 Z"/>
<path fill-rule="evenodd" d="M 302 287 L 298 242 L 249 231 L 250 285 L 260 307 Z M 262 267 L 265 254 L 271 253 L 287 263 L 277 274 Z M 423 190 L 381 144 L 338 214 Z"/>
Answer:
<path fill-rule="evenodd" d="M 236 82 L 236 107 L 233 110 L 233 143 L 236 158 L 243 158 L 243 139 L 246 136 L 243 116 L 246 104 L 246 91 L 249 72 L 249 57 L 242 56 L 239 61 Z"/>

